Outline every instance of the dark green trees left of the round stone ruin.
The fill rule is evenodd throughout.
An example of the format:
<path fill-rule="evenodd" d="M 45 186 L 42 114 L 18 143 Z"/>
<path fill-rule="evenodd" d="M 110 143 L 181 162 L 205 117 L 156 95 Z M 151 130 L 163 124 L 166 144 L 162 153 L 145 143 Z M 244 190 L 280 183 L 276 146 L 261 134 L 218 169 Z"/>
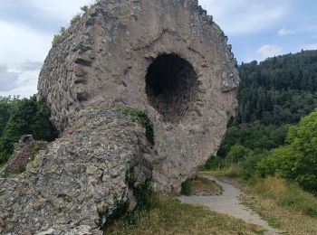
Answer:
<path fill-rule="evenodd" d="M 58 135 L 53 127 L 50 112 L 43 103 L 30 99 L 11 99 L 8 101 L 9 118 L 5 115 L 5 128 L 0 136 L 0 164 L 4 164 L 12 155 L 14 143 L 20 136 L 33 135 L 36 140 L 53 141 Z M 0 117 L 3 113 L 0 114 Z"/>

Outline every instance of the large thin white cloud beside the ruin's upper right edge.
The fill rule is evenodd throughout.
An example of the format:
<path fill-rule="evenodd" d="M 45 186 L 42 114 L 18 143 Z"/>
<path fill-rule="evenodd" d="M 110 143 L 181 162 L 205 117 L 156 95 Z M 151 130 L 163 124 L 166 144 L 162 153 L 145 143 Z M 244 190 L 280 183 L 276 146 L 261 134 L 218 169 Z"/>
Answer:
<path fill-rule="evenodd" d="M 228 34 L 257 33 L 283 20 L 290 3 L 287 0 L 199 0 L 216 23 Z"/>

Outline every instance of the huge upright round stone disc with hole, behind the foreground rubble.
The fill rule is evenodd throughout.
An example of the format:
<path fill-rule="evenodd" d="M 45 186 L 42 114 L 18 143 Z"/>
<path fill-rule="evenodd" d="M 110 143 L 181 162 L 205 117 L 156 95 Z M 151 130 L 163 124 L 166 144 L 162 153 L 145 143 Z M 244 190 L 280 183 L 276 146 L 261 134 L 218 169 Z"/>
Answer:
<path fill-rule="evenodd" d="M 235 64 L 197 0 L 101 0 L 53 46 L 38 99 L 60 131 L 82 108 L 147 110 L 159 155 L 155 189 L 178 191 L 216 154 L 234 115 Z"/>

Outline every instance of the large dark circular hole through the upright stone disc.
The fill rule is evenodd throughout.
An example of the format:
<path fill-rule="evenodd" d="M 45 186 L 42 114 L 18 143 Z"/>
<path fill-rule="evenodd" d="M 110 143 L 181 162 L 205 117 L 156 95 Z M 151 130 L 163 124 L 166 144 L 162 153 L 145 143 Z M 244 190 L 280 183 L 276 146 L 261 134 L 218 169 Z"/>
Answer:
<path fill-rule="evenodd" d="M 161 54 L 149 65 L 146 92 L 164 121 L 177 122 L 197 97 L 197 74 L 177 54 Z"/>

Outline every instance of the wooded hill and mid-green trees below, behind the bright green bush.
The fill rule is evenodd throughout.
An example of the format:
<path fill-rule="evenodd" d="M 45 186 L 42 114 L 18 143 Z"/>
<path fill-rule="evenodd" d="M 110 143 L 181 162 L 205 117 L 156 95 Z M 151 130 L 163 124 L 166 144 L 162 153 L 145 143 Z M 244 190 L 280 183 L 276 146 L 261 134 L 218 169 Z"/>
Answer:
<path fill-rule="evenodd" d="M 317 51 L 239 66 L 239 106 L 218 155 L 231 146 L 270 150 L 284 144 L 287 125 L 317 108 Z"/>

